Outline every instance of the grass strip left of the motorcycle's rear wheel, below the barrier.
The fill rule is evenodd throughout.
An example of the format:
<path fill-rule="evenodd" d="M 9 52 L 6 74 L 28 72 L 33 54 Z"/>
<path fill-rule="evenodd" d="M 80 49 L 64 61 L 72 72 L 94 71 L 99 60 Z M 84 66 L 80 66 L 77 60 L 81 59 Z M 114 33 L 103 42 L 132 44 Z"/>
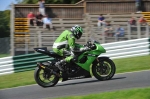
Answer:
<path fill-rule="evenodd" d="M 0 76 L 0 89 L 35 84 L 34 71 Z"/>

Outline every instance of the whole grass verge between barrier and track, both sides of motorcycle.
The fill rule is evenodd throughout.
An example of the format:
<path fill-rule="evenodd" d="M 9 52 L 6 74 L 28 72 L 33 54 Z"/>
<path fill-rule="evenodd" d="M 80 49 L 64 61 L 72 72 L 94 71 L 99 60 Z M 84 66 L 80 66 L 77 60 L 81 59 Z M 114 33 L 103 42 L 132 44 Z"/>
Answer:
<path fill-rule="evenodd" d="M 116 72 L 131 72 L 139 70 L 150 70 L 150 56 L 134 58 L 123 58 L 114 60 Z M 34 71 L 20 72 L 0 76 L 0 89 L 35 84 Z"/>

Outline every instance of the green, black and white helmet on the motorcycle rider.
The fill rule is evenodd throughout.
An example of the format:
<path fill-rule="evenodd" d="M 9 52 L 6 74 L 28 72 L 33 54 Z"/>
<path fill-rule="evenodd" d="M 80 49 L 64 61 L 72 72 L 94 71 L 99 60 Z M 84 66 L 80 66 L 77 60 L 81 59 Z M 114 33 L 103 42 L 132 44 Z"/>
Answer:
<path fill-rule="evenodd" d="M 80 39 L 83 33 L 83 29 L 79 25 L 75 25 L 71 28 L 71 32 L 76 39 Z"/>

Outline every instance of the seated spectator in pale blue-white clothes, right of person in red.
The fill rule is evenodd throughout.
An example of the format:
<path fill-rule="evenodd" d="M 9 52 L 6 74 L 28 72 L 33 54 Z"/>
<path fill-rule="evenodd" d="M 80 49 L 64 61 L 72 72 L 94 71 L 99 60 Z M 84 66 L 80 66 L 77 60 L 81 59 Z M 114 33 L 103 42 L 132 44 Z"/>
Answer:
<path fill-rule="evenodd" d="M 51 19 L 47 15 L 42 19 L 42 22 L 43 22 L 44 29 L 48 28 L 49 30 L 50 29 L 54 30 Z"/>

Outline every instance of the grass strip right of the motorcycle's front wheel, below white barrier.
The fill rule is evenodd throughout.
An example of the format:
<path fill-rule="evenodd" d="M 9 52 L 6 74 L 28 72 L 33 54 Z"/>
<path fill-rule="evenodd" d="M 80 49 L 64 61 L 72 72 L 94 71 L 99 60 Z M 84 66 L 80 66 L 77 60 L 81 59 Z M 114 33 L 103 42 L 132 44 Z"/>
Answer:
<path fill-rule="evenodd" d="M 150 70 L 150 55 L 116 59 L 114 62 L 117 73 Z"/>

